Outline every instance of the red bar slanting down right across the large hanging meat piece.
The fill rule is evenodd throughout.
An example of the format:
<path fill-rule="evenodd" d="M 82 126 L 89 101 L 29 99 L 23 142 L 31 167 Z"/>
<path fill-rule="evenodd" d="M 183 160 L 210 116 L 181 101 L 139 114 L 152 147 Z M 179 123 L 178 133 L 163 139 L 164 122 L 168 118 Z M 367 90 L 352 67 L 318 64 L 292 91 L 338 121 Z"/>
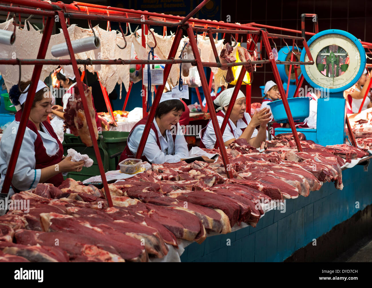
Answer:
<path fill-rule="evenodd" d="M 71 45 L 70 36 L 68 35 L 67 25 L 65 23 L 65 18 L 63 16 L 63 12 L 58 11 L 57 13 L 60 16 L 60 23 L 61 23 L 61 26 L 62 26 L 63 34 L 64 34 L 65 39 L 66 39 L 68 52 L 70 53 L 70 58 L 71 58 L 71 61 L 72 61 L 72 68 L 74 70 L 74 74 L 79 75 L 79 69 L 77 67 L 74 50 L 73 50 L 72 45 Z M 86 116 L 89 132 L 90 132 L 90 137 L 92 138 L 94 153 L 96 154 L 98 168 L 99 168 L 99 172 L 101 174 L 101 178 L 102 178 L 102 182 L 103 182 L 103 188 L 105 188 L 106 200 L 107 200 L 107 203 L 108 203 L 109 207 L 112 207 L 113 204 L 112 204 L 112 200 L 111 200 L 111 194 L 110 194 L 109 186 L 107 184 L 105 169 L 103 168 L 103 163 L 102 163 L 102 159 L 101 159 L 101 154 L 99 152 L 98 143 L 97 143 L 96 137 L 94 135 L 92 118 L 90 117 L 90 114 L 89 114 L 89 107 L 88 107 L 87 99 L 86 99 L 85 94 L 84 94 L 83 82 L 81 82 L 80 77 L 76 78 L 76 82 L 77 82 L 77 88 L 78 88 L 80 96 L 81 96 L 81 101 L 83 102 L 84 113 L 85 113 L 85 116 Z"/>

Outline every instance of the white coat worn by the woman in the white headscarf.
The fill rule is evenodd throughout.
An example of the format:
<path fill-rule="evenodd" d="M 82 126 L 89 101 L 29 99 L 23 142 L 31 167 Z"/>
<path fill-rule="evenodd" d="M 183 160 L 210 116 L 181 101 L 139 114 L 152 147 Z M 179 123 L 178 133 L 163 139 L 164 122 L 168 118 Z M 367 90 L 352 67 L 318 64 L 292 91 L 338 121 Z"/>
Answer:
<path fill-rule="evenodd" d="M 221 111 L 221 112 L 225 115 L 225 113 L 223 111 Z M 248 113 L 244 112 L 244 117 L 246 118 L 247 123 L 249 124 L 249 122 L 251 122 L 251 116 Z M 219 127 L 221 128 L 222 122 L 224 121 L 224 118 L 222 116 L 217 116 L 217 120 L 218 120 Z M 229 119 L 229 123 L 231 125 L 232 131 L 230 131 L 230 127 L 227 124 L 226 128 L 225 128 L 225 131 L 224 131 L 224 134 L 222 135 L 222 138 L 223 138 L 224 142 L 229 141 L 229 140 L 234 139 L 234 138 L 238 139 L 241 136 L 241 134 L 243 134 L 243 131 L 241 129 L 247 127 L 247 124 L 244 122 L 243 119 L 239 119 L 236 123 L 236 126 L 231 121 L 231 119 Z M 256 137 L 257 133 L 258 133 L 257 129 L 254 129 L 251 138 Z M 200 136 L 201 136 L 201 133 L 199 133 L 199 137 Z M 208 148 L 208 149 L 214 148 L 214 145 L 216 144 L 216 141 L 217 141 L 217 137 L 216 137 L 216 134 L 214 132 L 212 121 L 209 121 L 209 123 L 208 123 L 208 125 L 207 125 L 207 127 L 204 131 L 202 141 L 203 141 L 203 144 L 205 145 L 206 148 Z"/>

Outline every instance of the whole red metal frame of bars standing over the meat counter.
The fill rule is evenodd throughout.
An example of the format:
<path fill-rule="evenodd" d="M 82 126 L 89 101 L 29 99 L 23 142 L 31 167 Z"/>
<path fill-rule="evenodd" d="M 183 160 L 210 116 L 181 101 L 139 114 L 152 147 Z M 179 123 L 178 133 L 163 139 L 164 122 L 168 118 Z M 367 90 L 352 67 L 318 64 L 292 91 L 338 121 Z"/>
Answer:
<path fill-rule="evenodd" d="M 206 67 L 220 67 L 220 68 L 221 67 L 230 67 L 230 66 L 240 66 L 240 65 L 243 66 L 242 69 L 241 69 L 239 79 L 237 81 L 237 85 L 235 85 L 235 90 L 234 90 L 235 95 L 234 95 L 234 97 L 236 98 L 238 90 L 241 86 L 241 82 L 242 82 L 241 80 L 243 80 L 243 77 L 244 77 L 244 73 L 245 73 L 244 66 L 246 66 L 246 65 L 260 64 L 260 63 L 262 63 L 262 64 L 263 63 L 270 63 L 270 65 L 272 67 L 272 70 L 273 70 L 273 73 L 274 73 L 275 80 L 276 80 L 277 83 L 280 83 L 278 85 L 279 86 L 279 91 L 282 95 L 284 95 L 283 85 L 281 84 L 280 76 L 279 76 L 276 64 L 302 64 L 302 65 L 306 65 L 306 64 L 313 64 L 314 63 L 314 61 L 312 60 L 310 51 L 307 47 L 306 40 L 303 37 L 294 37 L 294 36 L 279 35 L 279 34 L 268 34 L 266 30 L 260 29 L 260 28 L 257 28 L 257 27 L 253 27 L 253 26 L 250 26 L 250 25 L 238 25 L 238 24 L 225 23 L 225 22 L 222 22 L 222 21 L 217 22 L 217 21 L 208 21 L 208 20 L 199 20 L 199 19 L 195 19 L 195 18 L 190 18 L 192 16 L 192 13 L 190 13 L 185 18 L 185 17 L 180 17 L 180 16 L 171 16 L 171 15 L 164 15 L 164 14 L 158 14 L 158 13 L 150 13 L 150 12 L 147 12 L 147 11 L 135 11 L 135 10 L 129 10 L 129 9 L 106 7 L 106 6 L 94 5 L 94 4 L 89 4 L 89 3 L 78 3 L 78 2 L 74 2 L 73 4 L 64 4 L 62 2 L 49 4 L 48 2 L 45 2 L 45 1 L 35 1 L 35 0 L 12 0 L 12 1 L 9 0 L 9 1 L 2 1 L 2 2 L 6 2 L 6 3 L 12 2 L 15 5 L 33 7 L 33 8 L 38 9 L 38 10 L 36 10 L 36 9 L 29 9 L 29 8 L 25 8 L 25 7 L 15 7 L 15 6 L 11 7 L 11 6 L 1 6 L 0 5 L 0 8 L 4 9 L 4 10 L 18 12 L 18 13 L 28 13 L 28 14 L 36 14 L 36 15 L 47 16 L 48 20 L 47 20 L 46 30 L 44 31 L 42 44 L 39 48 L 38 59 L 44 59 L 44 57 L 45 57 L 45 53 L 46 53 L 46 50 L 47 50 L 47 47 L 48 47 L 51 31 L 52 31 L 52 28 L 53 28 L 53 25 L 51 25 L 52 24 L 52 19 L 54 19 L 54 16 L 56 15 L 56 13 L 58 13 L 58 16 L 59 16 L 60 21 L 61 21 L 62 31 L 63 31 L 64 36 L 66 38 L 66 43 L 67 43 L 67 47 L 69 49 L 71 59 L 70 60 L 69 59 L 63 59 L 63 60 L 59 60 L 59 59 L 56 59 L 56 60 L 51 60 L 51 59 L 47 59 L 47 60 L 25 59 L 25 60 L 22 60 L 22 63 L 24 63 L 25 65 L 31 65 L 32 63 L 35 64 L 35 69 L 34 69 L 33 78 L 32 78 L 33 79 L 33 84 L 31 85 L 30 92 L 33 91 L 33 93 L 34 93 L 34 91 L 36 89 L 37 79 L 40 76 L 42 65 L 45 65 L 45 64 L 58 64 L 58 65 L 69 65 L 69 64 L 71 64 L 73 66 L 74 73 L 76 75 L 78 75 L 77 64 L 125 65 L 125 64 L 139 63 L 139 64 L 142 64 L 143 68 L 144 68 L 144 65 L 147 64 L 147 63 L 165 63 L 166 64 L 165 68 L 164 68 L 164 84 L 159 85 L 159 87 L 158 87 L 158 89 L 155 93 L 155 98 L 154 98 L 154 101 L 153 101 L 153 107 L 150 110 L 150 113 L 148 114 L 148 119 L 147 119 L 147 122 L 146 122 L 146 125 L 145 125 L 145 129 L 144 129 L 144 132 L 142 134 L 140 145 L 139 145 L 138 150 L 137 150 L 137 155 L 136 155 L 137 158 L 141 157 L 141 155 L 143 153 L 143 150 L 144 150 L 144 147 L 145 147 L 145 142 L 147 140 L 147 136 L 148 136 L 148 133 L 150 131 L 150 125 L 154 120 L 155 111 L 156 111 L 156 108 L 159 104 L 161 94 L 164 90 L 166 80 L 169 76 L 171 65 L 174 64 L 174 63 L 193 63 L 193 64 L 195 64 L 198 68 L 198 72 L 199 72 L 199 75 L 201 77 L 201 82 L 202 82 L 203 92 L 204 92 L 205 97 L 206 97 L 207 107 L 211 107 L 211 109 L 209 109 L 211 120 L 212 120 L 212 123 L 213 123 L 213 126 L 214 126 L 214 131 L 215 131 L 215 134 L 216 134 L 216 137 L 217 137 L 218 147 L 220 148 L 220 151 L 221 151 L 222 161 L 224 162 L 224 166 L 225 166 L 225 169 L 227 171 L 227 175 L 228 175 L 229 178 L 232 177 L 232 172 L 231 172 L 231 169 L 229 169 L 229 161 L 228 161 L 227 153 L 226 153 L 223 138 L 222 138 L 222 132 L 221 132 L 221 129 L 219 128 L 219 125 L 218 125 L 216 112 L 213 109 L 214 105 L 213 105 L 213 101 L 212 101 L 212 98 L 211 98 L 210 89 L 208 90 L 209 85 L 208 85 L 208 82 L 206 80 L 206 76 L 205 76 L 205 73 L 204 73 L 204 70 L 203 70 L 203 66 L 206 66 Z M 203 1 L 196 9 L 193 10 L 193 12 L 200 9 L 207 2 L 208 2 L 208 0 Z M 58 10 L 58 7 L 61 10 Z M 88 10 L 87 7 L 90 7 L 89 8 L 89 14 L 87 13 L 87 10 Z M 142 15 L 145 15 L 145 19 L 142 18 Z M 81 60 L 81 59 L 75 59 L 75 56 L 74 56 L 74 53 L 73 53 L 73 50 L 72 50 L 72 46 L 71 46 L 71 41 L 70 41 L 68 31 L 67 31 L 67 26 L 65 24 L 65 17 L 67 17 L 69 19 L 70 18 L 73 18 L 73 19 L 75 18 L 75 19 L 90 19 L 90 20 L 101 20 L 101 21 L 117 21 L 117 22 L 125 22 L 125 23 L 126 22 L 139 23 L 139 24 L 142 25 L 142 45 L 143 46 L 145 46 L 145 34 L 147 34 L 147 32 L 148 32 L 147 31 L 147 25 L 177 27 L 177 32 L 176 32 L 176 36 L 174 38 L 174 41 L 172 43 L 172 47 L 170 49 L 170 53 L 168 55 L 168 60 L 121 60 L 121 59 L 115 59 L 115 60 Z M 189 24 L 189 22 L 186 22 L 188 18 L 189 18 L 189 22 L 192 22 L 192 26 Z M 156 20 L 159 19 L 160 21 L 156 21 L 156 20 L 153 20 L 153 19 L 156 19 Z M 164 22 L 164 21 L 166 21 L 166 22 Z M 204 31 L 204 32 L 208 32 L 209 35 L 211 35 L 212 32 L 221 32 L 221 31 L 226 32 L 226 33 L 235 33 L 235 34 L 247 34 L 247 33 L 253 34 L 254 42 L 256 42 L 256 43 L 257 43 L 257 41 L 259 41 L 260 38 L 262 38 L 264 46 L 266 48 L 267 54 L 269 54 L 269 52 L 271 51 L 271 47 L 270 47 L 270 44 L 269 44 L 269 38 L 268 37 L 301 40 L 302 43 L 304 44 L 304 48 L 306 50 L 306 53 L 308 54 L 308 57 L 309 57 L 310 61 L 306 62 L 306 63 L 305 62 L 289 62 L 289 61 L 281 62 L 281 61 L 275 61 L 274 59 L 270 59 L 270 60 L 260 60 L 260 61 L 252 61 L 252 62 L 221 64 L 221 63 L 219 63 L 217 50 L 214 49 L 215 48 L 214 41 L 211 41 L 212 50 L 214 50 L 214 54 L 215 54 L 215 57 L 216 57 L 216 63 L 202 62 L 199 51 L 198 51 L 198 48 L 196 46 L 195 36 L 194 36 L 194 33 L 193 33 L 193 30 L 197 29 L 197 27 L 194 27 L 195 25 L 196 26 L 206 26 L 206 25 L 208 25 L 209 28 L 199 28 L 199 30 Z M 217 29 L 214 29 L 214 28 L 217 28 Z M 225 29 L 221 29 L 221 28 L 225 28 Z M 233 29 L 233 30 L 229 30 L 229 29 Z M 179 43 L 180 43 L 182 35 L 183 35 L 183 30 L 187 31 L 187 35 L 189 36 L 190 45 L 192 47 L 195 60 L 174 60 L 174 57 L 176 55 Z M 212 38 L 212 37 L 210 37 L 210 38 Z M 253 48 L 254 48 L 254 43 L 253 43 L 253 41 L 251 41 L 249 50 L 253 50 Z M 23 61 L 25 61 L 25 62 L 23 62 Z M 0 59 L 0 63 L 1 64 L 6 64 L 6 65 L 16 65 L 16 64 L 18 64 L 16 59 L 14 59 L 14 60 L 13 59 Z M 83 85 L 82 85 L 82 82 L 81 82 L 80 78 L 77 79 L 77 87 L 78 87 L 78 90 L 79 90 L 80 94 L 84 95 Z M 144 89 L 143 85 L 142 85 L 142 88 Z M 223 88 L 224 87 L 222 87 L 222 89 Z M 89 110 L 88 110 L 88 106 L 87 106 L 87 101 L 86 101 L 85 97 L 81 97 L 81 98 L 82 98 L 84 110 L 85 110 L 85 113 L 86 113 L 86 116 L 87 116 L 87 123 L 88 123 L 89 131 L 90 131 L 90 134 L 93 136 L 92 140 L 93 140 L 94 152 L 95 152 L 96 157 L 97 157 L 97 162 L 98 162 L 100 173 L 101 173 L 101 176 L 102 176 L 103 186 L 104 186 L 105 191 L 106 191 L 106 198 L 108 200 L 109 206 L 111 207 L 112 206 L 112 200 L 111 200 L 110 194 L 108 192 L 109 191 L 108 184 L 107 184 L 105 172 L 104 172 L 104 169 L 103 169 L 102 159 L 100 158 L 97 141 L 94 138 L 92 120 L 89 117 Z M 144 104 L 143 107 L 146 106 L 145 105 L 146 98 L 147 97 L 145 96 L 142 99 L 142 103 Z M 27 120 L 29 112 L 31 110 L 32 100 L 33 100 L 32 97 L 30 97 L 26 101 L 26 105 L 25 105 L 25 108 L 26 108 L 25 111 L 26 112 L 24 112 L 23 115 L 22 115 L 20 129 L 17 132 L 16 145 L 15 145 L 15 148 L 13 148 L 13 152 L 12 152 L 12 156 L 11 156 L 11 160 L 13 160 L 13 162 L 11 162 L 11 164 L 9 166 L 9 169 L 7 171 L 7 178 L 6 178 L 6 181 L 4 182 L 2 191 L 9 190 L 10 179 L 12 179 L 12 176 L 13 176 L 13 173 L 14 173 L 16 159 L 18 157 L 20 144 L 22 143 L 22 137 L 23 137 L 25 127 L 26 127 L 26 120 Z M 285 106 L 285 110 L 286 110 L 286 113 L 287 113 L 287 116 L 288 116 L 288 119 L 289 119 L 289 123 L 290 123 L 291 128 L 292 128 L 292 132 L 294 133 L 297 148 L 298 148 L 299 151 L 302 151 L 301 143 L 299 142 L 298 135 L 296 133 L 296 128 L 295 128 L 294 121 L 293 121 L 293 118 L 292 118 L 292 115 L 291 115 L 291 111 L 289 110 L 288 101 L 286 100 L 286 97 L 283 97 L 283 104 Z M 232 105 L 230 105 L 230 110 L 231 109 L 232 109 Z M 87 113 L 88 113 L 88 115 L 87 115 Z M 147 113 L 144 112 L 144 116 L 146 114 Z M 230 113 L 229 113 L 229 115 L 230 115 Z M 227 117 L 225 117 L 224 122 L 227 123 L 229 115 L 226 115 Z"/>

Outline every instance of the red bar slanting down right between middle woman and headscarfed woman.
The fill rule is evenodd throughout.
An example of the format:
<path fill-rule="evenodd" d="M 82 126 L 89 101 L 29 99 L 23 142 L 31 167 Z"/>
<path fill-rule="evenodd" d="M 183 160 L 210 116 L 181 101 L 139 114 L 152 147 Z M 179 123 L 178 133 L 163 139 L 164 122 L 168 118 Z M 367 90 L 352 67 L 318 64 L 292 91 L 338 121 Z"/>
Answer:
<path fill-rule="evenodd" d="M 222 156 L 222 162 L 224 162 L 225 170 L 227 173 L 228 178 L 233 178 L 231 169 L 230 169 L 230 163 L 229 159 L 227 157 L 227 152 L 224 144 L 224 139 L 222 138 L 221 129 L 219 129 L 219 124 L 217 121 L 216 111 L 214 110 L 214 105 L 211 97 L 211 91 L 208 91 L 208 83 L 207 79 L 205 77 L 204 69 L 202 66 L 202 61 L 200 58 L 198 46 L 196 45 L 196 40 L 194 38 L 194 32 L 192 31 L 192 27 L 190 25 L 187 26 L 187 35 L 189 36 L 190 45 L 192 47 L 192 51 L 194 54 L 194 58 L 196 59 L 196 66 L 198 67 L 198 72 L 200 75 L 200 79 L 202 82 L 203 92 L 206 99 L 206 103 L 209 107 L 209 114 L 211 116 L 211 120 L 213 123 L 214 132 L 216 134 L 219 150 L 221 151 Z"/>

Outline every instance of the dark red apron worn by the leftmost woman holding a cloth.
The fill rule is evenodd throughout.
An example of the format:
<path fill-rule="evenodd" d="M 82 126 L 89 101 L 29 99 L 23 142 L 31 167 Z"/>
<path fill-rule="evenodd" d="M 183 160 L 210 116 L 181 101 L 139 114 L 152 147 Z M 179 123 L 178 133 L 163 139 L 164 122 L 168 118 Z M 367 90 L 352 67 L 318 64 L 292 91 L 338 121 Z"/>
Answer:
<path fill-rule="evenodd" d="M 21 116 L 22 116 L 22 110 L 19 110 L 16 113 L 16 116 L 15 116 L 16 121 L 19 122 L 20 119 L 21 119 Z M 63 156 L 63 146 L 62 146 L 60 140 L 58 140 L 58 137 L 55 134 L 54 129 L 48 123 L 48 120 L 45 120 L 44 122 L 42 122 L 42 124 L 44 125 L 45 129 L 47 129 L 49 134 L 57 141 L 58 146 L 59 146 L 59 150 L 58 150 L 57 154 L 49 156 L 47 154 L 47 150 L 44 147 L 44 143 L 43 143 L 42 138 L 39 134 L 39 130 L 36 129 L 36 126 L 35 126 L 34 123 L 32 123 L 30 120 L 27 120 L 27 127 L 29 129 L 31 129 L 33 132 L 35 132 L 35 134 L 37 135 L 35 143 L 34 143 L 34 145 L 35 145 L 35 169 L 43 169 L 43 168 L 46 168 L 48 166 L 58 164 L 62 161 L 62 156 Z M 62 181 L 63 181 L 62 173 L 58 173 L 57 175 L 53 176 L 52 178 L 49 178 L 48 180 L 46 180 L 45 183 L 51 183 L 55 187 L 58 187 L 59 185 L 61 185 Z M 13 189 L 14 189 L 14 187 L 13 187 Z M 17 191 L 17 192 L 19 192 L 19 191 Z"/>

